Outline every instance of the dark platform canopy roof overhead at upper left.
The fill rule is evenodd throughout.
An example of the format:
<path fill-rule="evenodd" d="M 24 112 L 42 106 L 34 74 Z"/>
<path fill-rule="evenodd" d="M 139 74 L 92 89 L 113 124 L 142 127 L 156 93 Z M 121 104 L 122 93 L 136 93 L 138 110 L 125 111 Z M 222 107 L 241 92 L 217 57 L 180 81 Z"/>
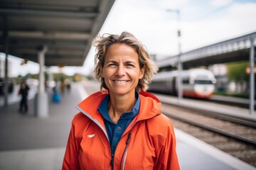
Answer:
<path fill-rule="evenodd" d="M 0 0 L 0 52 L 46 66 L 82 66 L 114 0 Z"/>

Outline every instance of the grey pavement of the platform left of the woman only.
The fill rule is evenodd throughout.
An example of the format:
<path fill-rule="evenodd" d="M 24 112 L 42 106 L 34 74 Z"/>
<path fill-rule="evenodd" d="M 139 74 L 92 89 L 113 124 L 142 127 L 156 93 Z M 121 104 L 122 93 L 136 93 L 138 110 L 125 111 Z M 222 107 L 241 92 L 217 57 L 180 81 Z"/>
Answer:
<path fill-rule="evenodd" d="M 33 115 L 33 99 L 28 101 L 27 114 L 18 113 L 18 103 L 0 107 L 0 169 L 61 169 L 71 120 L 80 101 L 74 84 L 60 103 L 49 102 L 48 118 Z"/>

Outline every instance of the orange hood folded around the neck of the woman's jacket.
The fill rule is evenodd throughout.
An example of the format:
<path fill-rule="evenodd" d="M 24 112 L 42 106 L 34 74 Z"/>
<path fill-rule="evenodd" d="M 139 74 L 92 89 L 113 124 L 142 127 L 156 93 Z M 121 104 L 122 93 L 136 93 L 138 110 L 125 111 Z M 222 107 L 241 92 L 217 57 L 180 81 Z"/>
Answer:
<path fill-rule="evenodd" d="M 100 106 L 103 98 L 107 96 L 107 91 L 98 91 L 95 94 L 92 94 L 85 98 L 82 102 L 78 104 L 76 108 L 91 119 L 96 119 L 99 121 L 101 115 L 97 111 L 97 108 Z M 146 120 L 153 118 L 156 115 L 161 114 L 161 103 L 156 96 L 150 94 L 146 91 L 141 91 L 139 93 L 140 97 L 140 106 L 139 106 L 139 115 L 137 120 Z M 100 121 L 103 123 L 103 120 Z"/>

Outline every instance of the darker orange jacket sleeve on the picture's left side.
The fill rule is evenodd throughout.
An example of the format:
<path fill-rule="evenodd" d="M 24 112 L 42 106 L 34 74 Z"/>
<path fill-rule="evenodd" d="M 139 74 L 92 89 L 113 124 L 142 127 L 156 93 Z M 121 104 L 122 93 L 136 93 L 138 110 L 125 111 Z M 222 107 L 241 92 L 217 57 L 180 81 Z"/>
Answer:
<path fill-rule="evenodd" d="M 68 137 L 68 144 L 65 150 L 63 159 L 63 170 L 80 169 L 78 161 L 79 142 L 75 137 L 75 126 L 72 125 L 70 135 Z"/>

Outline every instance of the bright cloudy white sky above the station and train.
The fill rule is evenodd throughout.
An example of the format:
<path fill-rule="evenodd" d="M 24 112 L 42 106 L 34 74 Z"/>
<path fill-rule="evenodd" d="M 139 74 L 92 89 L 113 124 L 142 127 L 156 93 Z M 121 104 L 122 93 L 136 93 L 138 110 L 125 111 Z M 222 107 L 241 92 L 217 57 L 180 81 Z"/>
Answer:
<path fill-rule="evenodd" d="M 255 9 L 256 0 L 116 0 L 99 34 L 128 31 L 160 60 L 178 54 L 178 28 L 181 52 L 255 32 Z M 179 21 L 174 10 L 180 12 Z M 83 67 L 63 67 L 62 72 L 90 74 L 94 55 L 92 47 Z M 38 73 L 38 65 L 29 63 L 19 65 L 23 68 L 13 74 Z M 50 71 L 60 69 L 53 67 Z"/>

